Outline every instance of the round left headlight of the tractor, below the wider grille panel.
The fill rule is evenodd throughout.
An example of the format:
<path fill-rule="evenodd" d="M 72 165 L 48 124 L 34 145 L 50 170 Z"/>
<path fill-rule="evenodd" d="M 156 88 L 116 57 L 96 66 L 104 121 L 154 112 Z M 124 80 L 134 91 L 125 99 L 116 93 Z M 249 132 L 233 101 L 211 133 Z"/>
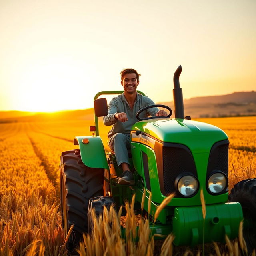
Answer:
<path fill-rule="evenodd" d="M 198 181 L 194 176 L 186 175 L 180 178 L 177 187 L 182 196 L 192 196 L 198 189 Z"/>

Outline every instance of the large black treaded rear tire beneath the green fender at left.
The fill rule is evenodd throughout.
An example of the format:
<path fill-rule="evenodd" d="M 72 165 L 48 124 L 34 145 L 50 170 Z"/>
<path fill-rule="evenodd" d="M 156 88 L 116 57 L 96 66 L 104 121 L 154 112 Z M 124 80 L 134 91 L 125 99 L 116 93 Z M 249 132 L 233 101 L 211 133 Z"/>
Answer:
<path fill-rule="evenodd" d="M 103 195 L 104 169 L 85 166 L 79 149 L 62 152 L 60 160 L 62 226 L 67 235 L 74 224 L 68 240 L 68 248 L 73 250 L 88 232 L 90 198 Z"/>

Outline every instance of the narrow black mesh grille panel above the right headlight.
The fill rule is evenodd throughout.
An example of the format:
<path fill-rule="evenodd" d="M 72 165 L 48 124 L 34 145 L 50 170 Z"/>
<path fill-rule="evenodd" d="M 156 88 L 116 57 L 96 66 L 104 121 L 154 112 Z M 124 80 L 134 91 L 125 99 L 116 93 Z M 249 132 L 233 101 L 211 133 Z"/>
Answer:
<path fill-rule="evenodd" d="M 212 172 L 221 171 L 228 177 L 228 140 L 222 140 L 212 146 L 207 167 L 207 180 Z"/>

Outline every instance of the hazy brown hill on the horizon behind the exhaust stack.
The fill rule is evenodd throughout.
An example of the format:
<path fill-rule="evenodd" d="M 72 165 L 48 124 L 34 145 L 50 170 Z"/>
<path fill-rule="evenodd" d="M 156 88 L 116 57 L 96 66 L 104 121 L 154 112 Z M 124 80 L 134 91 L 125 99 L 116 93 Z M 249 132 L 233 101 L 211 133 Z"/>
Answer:
<path fill-rule="evenodd" d="M 159 102 L 174 110 L 173 101 Z M 186 116 L 224 117 L 224 116 L 255 116 L 256 92 L 234 92 L 226 95 L 194 97 L 184 100 Z"/>

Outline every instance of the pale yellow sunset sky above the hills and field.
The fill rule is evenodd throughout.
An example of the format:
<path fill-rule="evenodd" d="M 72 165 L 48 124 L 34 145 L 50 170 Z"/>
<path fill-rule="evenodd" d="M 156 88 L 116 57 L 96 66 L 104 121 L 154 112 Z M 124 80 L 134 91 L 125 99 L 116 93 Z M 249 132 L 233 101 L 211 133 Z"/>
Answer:
<path fill-rule="evenodd" d="M 93 106 L 134 68 L 154 102 L 256 90 L 255 0 L 0 0 L 0 110 Z"/>

